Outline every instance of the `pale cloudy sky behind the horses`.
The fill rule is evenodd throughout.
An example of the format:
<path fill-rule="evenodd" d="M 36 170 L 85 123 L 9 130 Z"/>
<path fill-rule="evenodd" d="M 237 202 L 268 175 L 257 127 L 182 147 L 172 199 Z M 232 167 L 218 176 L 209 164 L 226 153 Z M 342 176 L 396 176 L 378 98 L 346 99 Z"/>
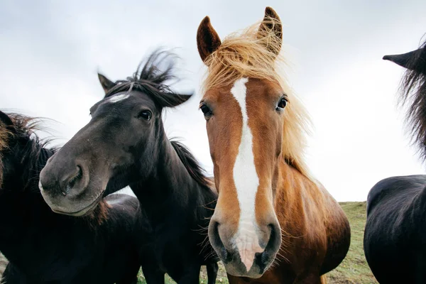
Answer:
<path fill-rule="evenodd" d="M 289 81 L 315 130 L 307 163 L 338 201 L 366 200 L 393 175 L 425 173 L 396 107 L 403 68 L 381 58 L 414 50 L 426 33 L 426 1 L 0 1 L 0 109 L 45 116 L 57 143 L 89 121 L 111 80 L 132 75 L 154 48 L 179 48 L 182 87 L 197 96 L 168 111 L 178 136 L 212 173 L 198 110 L 204 66 L 196 32 L 204 16 L 224 38 L 272 6 L 284 26 Z"/>

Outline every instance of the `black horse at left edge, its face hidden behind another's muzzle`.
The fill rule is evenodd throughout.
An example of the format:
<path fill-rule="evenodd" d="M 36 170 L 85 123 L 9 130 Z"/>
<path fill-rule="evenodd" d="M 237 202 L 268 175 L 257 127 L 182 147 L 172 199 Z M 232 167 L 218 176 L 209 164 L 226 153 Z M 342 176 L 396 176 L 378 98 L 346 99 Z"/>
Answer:
<path fill-rule="evenodd" d="M 81 218 L 52 212 L 38 182 L 55 149 L 39 141 L 35 126 L 33 119 L 0 111 L 0 251 L 9 259 L 2 280 L 136 284 L 138 200 L 111 195 Z"/>

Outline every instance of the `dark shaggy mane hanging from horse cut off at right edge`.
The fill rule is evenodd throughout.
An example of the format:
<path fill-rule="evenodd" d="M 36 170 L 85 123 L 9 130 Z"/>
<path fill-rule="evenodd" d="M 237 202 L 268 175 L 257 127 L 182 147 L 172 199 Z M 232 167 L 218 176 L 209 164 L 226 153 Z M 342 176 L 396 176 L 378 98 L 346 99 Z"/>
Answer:
<path fill-rule="evenodd" d="M 426 159 L 426 41 L 408 62 L 401 80 L 400 103 L 409 104 L 406 121 L 410 126 L 413 143 L 419 149 L 422 160 Z"/>

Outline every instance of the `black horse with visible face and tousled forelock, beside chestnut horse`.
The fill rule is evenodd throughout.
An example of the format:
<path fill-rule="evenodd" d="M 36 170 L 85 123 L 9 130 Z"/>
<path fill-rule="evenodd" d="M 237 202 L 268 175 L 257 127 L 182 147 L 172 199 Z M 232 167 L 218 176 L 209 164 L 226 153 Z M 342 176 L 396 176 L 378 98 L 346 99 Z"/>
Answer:
<path fill-rule="evenodd" d="M 130 185 L 150 223 L 140 243 L 146 281 L 164 283 L 168 273 L 178 283 L 199 283 L 206 265 L 212 284 L 218 267 L 207 226 L 217 192 L 190 151 L 167 138 L 161 119 L 165 107 L 191 96 L 166 84 L 175 80 L 174 64 L 172 54 L 156 51 L 127 80 L 99 75 L 105 97 L 40 173 L 42 194 L 55 212 L 83 215 L 105 191 Z"/>

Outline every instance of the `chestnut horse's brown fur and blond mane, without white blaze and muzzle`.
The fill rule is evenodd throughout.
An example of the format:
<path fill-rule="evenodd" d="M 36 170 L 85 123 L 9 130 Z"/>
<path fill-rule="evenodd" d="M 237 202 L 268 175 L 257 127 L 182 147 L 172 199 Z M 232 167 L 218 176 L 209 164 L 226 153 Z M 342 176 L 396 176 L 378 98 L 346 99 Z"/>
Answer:
<path fill-rule="evenodd" d="M 229 275 L 231 284 L 325 283 L 321 275 L 336 268 L 349 249 L 349 222 L 342 208 L 311 178 L 303 160 L 310 119 L 278 72 L 282 62 L 278 26 L 278 15 L 266 9 L 261 28 L 251 26 L 241 35 L 231 35 L 208 55 L 206 48 L 200 51 L 208 67 L 202 104 L 212 109 L 207 134 L 219 190 L 215 215 L 226 220 L 220 226 L 226 227 L 229 237 L 238 228 L 239 202 L 232 173 L 241 141 L 241 111 L 230 89 L 236 80 L 248 77 L 246 109 L 259 178 L 256 221 L 259 226 L 269 224 L 276 214 L 282 230 L 273 266 L 258 279 Z M 216 33 L 209 21 L 201 23 L 199 35 L 203 30 Z M 283 94 L 288 105 L 278 115 L 273 103 Z"/>

